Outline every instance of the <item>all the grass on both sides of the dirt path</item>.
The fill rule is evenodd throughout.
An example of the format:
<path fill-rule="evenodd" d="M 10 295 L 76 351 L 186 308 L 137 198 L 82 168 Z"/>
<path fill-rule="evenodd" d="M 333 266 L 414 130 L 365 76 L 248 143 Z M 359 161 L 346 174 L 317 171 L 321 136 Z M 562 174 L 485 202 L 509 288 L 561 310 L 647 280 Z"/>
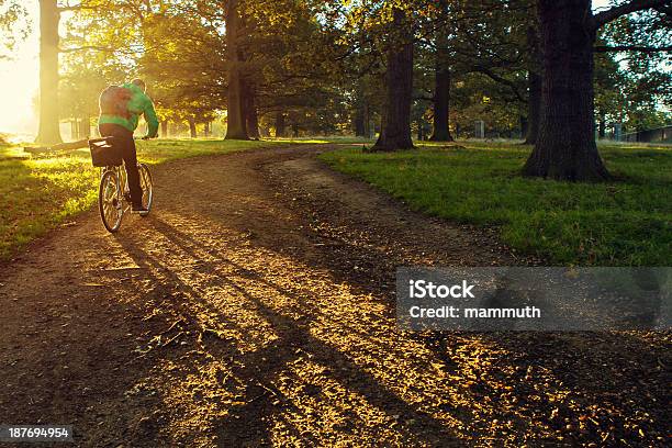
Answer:
<path fill-rule="evenodd" d="M 355 144 L 352 138 L 138 143 L 138 158 L 161 164 L 278 143 Z M 564 183 L 518 175 L 529 147 L 508 143 L 426 144 L 418 150 L 325 153 L 335 168 L 365 179 L 412 208 L 461 223 L 499 225 L 512 247 L 557 265 L 670 266 L 672 148 L 612 145 L 601 153 L 618 181 Z M 0 259 L 88 210 L 99 172 L 88 149 L 35 157 L 0 147 Z"/>

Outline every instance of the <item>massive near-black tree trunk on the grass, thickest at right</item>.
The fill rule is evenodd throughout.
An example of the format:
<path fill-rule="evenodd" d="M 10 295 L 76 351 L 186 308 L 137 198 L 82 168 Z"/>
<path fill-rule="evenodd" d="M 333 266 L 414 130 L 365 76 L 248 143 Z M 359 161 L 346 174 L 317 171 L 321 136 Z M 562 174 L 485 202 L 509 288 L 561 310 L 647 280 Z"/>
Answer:
<path fill-rule="evenodd" d="M 572 181 L 607 179 L 595 144 L 591 0 L 539 0 L 538 13 L 544 108 L 524 173 Z"/>

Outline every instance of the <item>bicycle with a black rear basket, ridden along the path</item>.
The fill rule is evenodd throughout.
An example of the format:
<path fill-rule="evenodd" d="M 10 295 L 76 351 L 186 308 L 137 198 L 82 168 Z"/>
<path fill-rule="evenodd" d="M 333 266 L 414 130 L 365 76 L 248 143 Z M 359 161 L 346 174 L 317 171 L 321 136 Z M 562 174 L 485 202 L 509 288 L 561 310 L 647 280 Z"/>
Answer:
<path fill-rule="evenodd" d="M 94 167 L 100 168 L 100 184 L 98 189 L 98 210 L 103 225 L 110 233 L 119 232 L 124 213 L 131 209 L 131 193 L 124 161 L 112 145 L 114 137 L 92 138 L 89 141 L 91 161 Z M 146 212 L 141 216 L 147 216 L 152 209 L 154 191 L 152 175 L 145 164 L 137 164 L 141 188 L 143 190 L 142 203 Z"/>

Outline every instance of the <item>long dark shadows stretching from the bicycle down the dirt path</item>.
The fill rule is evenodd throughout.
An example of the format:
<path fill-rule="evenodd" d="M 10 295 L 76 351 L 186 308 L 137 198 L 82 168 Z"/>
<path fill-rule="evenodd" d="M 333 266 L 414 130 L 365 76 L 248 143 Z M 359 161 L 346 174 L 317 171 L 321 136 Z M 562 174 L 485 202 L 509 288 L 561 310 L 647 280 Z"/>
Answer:
<path fill-rule="evenodd" d="M 225 254 L 203 246 L 201 242 L 158 217 L 152 217 L 148 225 L 163 234 L 175 246 L 176 250 L 184 253 L 190 259 L 200 260 L 203 258 L 203 253 L 208 253 L 214 257 L 212 262 L 229 265 L 238 275 L 242 273 L 243 277 L 262 283 L 271 294 L 301 301 L 301 298 L 293 292 L 262 279 L 255 272 L 250 272 L 248 268 L 228 259 Z M 190 303 L 197 301 L 199 307 L 209 309 L 213 315 L 220 315 L 219 310 L 213 309 L 206 300 L 202 299 L 202 291 L 198 291 L 193 285 L 186 283 L 170 267 L 165 265 L 165 261 L 145 250 L 135 239 L 135 236 L 125 234 L 117 237 L 117 242 L 134 261 L 146 272 L 149 272 L 153 282 L 175 288 L 189 296 L 189 302 L 172 303 L 172 305 L 179 309 L 180 316 L 187 317 L 190 327 L 202 333 L 204 328 L 199 311 L 191 309 Z M 206 267 L 205 270 L 210 269 Z M 233 288 L 248 301 L 256 313 L 259 313 L 271 324 L 278 335 L 278 338 L 271 345 L 247 352 L 236 349 L 236 340 L 223 340 L 217 337 L 202 338 L 202 346 L 209 356 L 217 359 L 234 358 L 231 366 L 232 376 L 238 382 L 246 384 L 245 404 L 231 408 L 226 417 L 215 423 L 219 446 L 238 445 L 243 441 L 255 445 L 270 443 L 269 417 L 285 411 L 287 406 L 292 406 L 291 400 L 278 390 L 275 382 L 290 363 L 302 356 L 309 356 L 312 362 L 323 366 L 325 371 L 343 387 L 360 394 L 392 419 L 405 418 L 416 422 L 417 427 L 422 430 L 407 429 L 404 436 L 406 439 L 429 445 L 456 443 L 457 439 L 443 422 L 437 421 L 426 412 L 419 411 L 416 405 L 405 402 L 397 394 L 388 390 L 380 384 L 376 377 L 362 370 L 338 348 L 314 337 L 310 328 L 312 323 L 310 317 L 296 320 L 273 310 L 257 295 L 249 293 L 245 285 L 233 276 L 212 276 L 206 283 L 210 287 Z M 305 315 L 310 316 L 314 313 L 318 313 L 318 311 L 306 304 Z M 232 323 L 226 322 L 225 325 L 229 324 Z M 336 366 L 338 368 L 335 368 Z M 318 394 L 320 391 L 316 390 L 315 393 Z M 277 401 L 280 401 L 282 406 L 273 404 Z M 295 410 L 295 406 L 293 407 Z M 310 437 L 307 437 L 306 441 L 310 440 Z M 318 440 L 313 439 L 312 441 L 317 443 Z"/>

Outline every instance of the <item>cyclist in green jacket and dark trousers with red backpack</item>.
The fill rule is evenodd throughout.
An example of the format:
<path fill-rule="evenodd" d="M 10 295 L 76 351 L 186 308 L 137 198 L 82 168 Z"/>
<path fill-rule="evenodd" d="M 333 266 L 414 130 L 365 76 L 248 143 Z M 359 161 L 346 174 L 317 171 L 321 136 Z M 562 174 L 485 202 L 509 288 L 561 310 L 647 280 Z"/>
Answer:
<path fill-rule="evenodd" d="M 147 135 L 143 138 L 158 136 L 158 120 L 152 99 L 145 93 L 146 85 L 142 79 L 123 86 L 110 86 L 100 94 L 100 116 L 98 130 L 103 137 L 113 137 L 111 144 L 122 155 L 128 189 L 131 190 L 131 204 L 134 212 L 146 212 L 143 205 L 143 190 L 137 171 L 137 153 L 133 133 L 137 127 L 139 115 L 147 122 Z"/>

